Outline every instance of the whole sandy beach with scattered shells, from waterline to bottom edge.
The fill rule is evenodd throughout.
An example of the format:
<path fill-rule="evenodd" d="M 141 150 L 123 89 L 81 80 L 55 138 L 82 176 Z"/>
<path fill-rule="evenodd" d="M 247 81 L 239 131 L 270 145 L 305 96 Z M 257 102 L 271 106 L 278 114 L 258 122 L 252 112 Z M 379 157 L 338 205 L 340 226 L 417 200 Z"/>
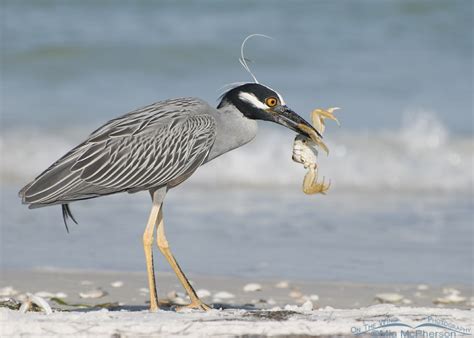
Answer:
<path fill-rule="evenodd" d="M 472 290 L 463 285 L 370 285 L 191 276 L 203 300 L 214 308 L 204 313 L 176 311 L 178 305 L 186 303 L 186 297 L 175 277 L 162 273 L 157 277 L 161 310 L 150 313 L 145 277 L 137 272 L 3 271 L 1 335 L 363 336 L 381 329 L 416 330 L 421 323 L 428 324 L 423 326 L 426 332 L 454 332 L 429 326 L 435 320 L 444 321 L 443 325 L 455 324 L 458 331 L 472 330 L 473 325 Z M 458 300 L 449 304 L 447 300 L 453 292 Z M 20 313 L 14 309 L 13 305 L 24 301 L 27 293 L 47 300 L 53 313 Z M 7 304 L 12 308 L 8 309 Z M 401 326 L 376 329 L 385 325 L 380 324 L 383 319 Z M 461 335 L 460 332 L 457 334 Z"/>

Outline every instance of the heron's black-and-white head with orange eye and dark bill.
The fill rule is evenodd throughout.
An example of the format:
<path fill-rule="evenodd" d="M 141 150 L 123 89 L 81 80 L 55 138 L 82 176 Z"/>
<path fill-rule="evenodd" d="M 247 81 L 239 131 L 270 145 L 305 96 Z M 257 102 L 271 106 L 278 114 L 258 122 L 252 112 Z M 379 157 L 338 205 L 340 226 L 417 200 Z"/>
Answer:
<path fill-rule="evenodd" d="M 311 124 L 288 108 L 279 93 L 262 84 L 246 83 L 232 88 L 222 95 L 217 108 L 227 105 L 237 108 L 246 118 L 275 122 L 307 137 L 310 128 L 321 137 Z"/>

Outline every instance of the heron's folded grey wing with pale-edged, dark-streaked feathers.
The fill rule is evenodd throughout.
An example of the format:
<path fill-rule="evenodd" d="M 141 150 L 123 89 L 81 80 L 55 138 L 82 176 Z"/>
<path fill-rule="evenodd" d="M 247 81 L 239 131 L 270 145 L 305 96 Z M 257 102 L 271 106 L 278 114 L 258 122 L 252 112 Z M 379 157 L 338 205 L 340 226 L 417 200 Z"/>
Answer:
<path fill-rule="evenodd" d="M 167 100 L 109 121 L 20 191 L 32 206 L 175 186 L 206 159 L 215 120 L 199 99 Z"/>

